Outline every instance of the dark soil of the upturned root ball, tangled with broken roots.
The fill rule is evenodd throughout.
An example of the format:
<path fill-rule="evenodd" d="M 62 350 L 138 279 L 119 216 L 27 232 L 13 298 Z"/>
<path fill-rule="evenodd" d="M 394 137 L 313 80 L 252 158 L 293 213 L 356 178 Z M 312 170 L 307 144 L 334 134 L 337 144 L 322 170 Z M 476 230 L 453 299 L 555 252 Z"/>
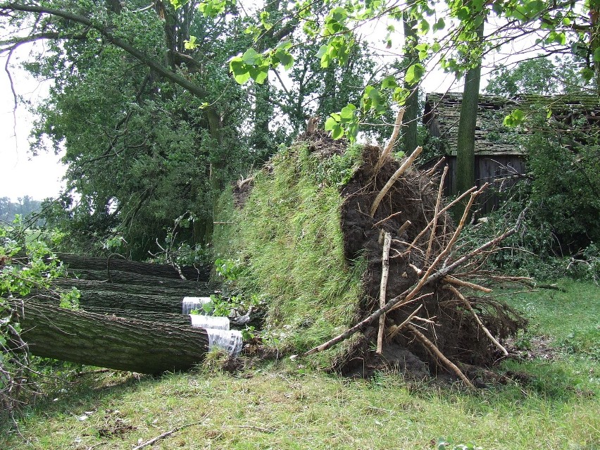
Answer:
<path fill-rule="evenodd" d="M 411 170 L 399 177 L 371 216 L 369 211 L 375 197 L 399 168 L 398 161 L 388 158 L 375 173 L 380 154 L 379 147 L 365 147 L 361 168 L 342 189 L 345 199 L 342 206 L 342 230 L 346 258 L 355 260 L 363 256 L 368 261 L 364 280 L 366 295 L 363 315 L 378 306 L 385 232 L 389 232 L 392 237 L 387 278 L 387 299 L 392 299 L 418 283 L 423 271 L 446 248 L 456 230 L 446 212 L 437 214 L 433 232 L 432 226 L 427 229 L 436 215 L 436 208 L 438 211 L 442 209 L 437 201 L 439 180 L 432 178 L 430 173 L 419 170 Z M 463 299 L 449 289 L 446 286 L 448 282 L 444 280 L 441 277 L 439 282 L 423 287 L 419 294 L 423 296 L 423 300 L 387 313 L 385 329 L 394 330 L 395 326 L 404 323 L 422 305 L 418 318 L 412 320 L 413 327 L 418 327 L 422 335 L 435 344 L 446 358 L 470 365 L 492 363 L 498 358 L 500 350 L 485 335 L 482 325 L 495 337 L 505 339 L 519 327 L 523 327 L 524 320 L 506 304 L 472 296 L 467 301 L 482 321 L 480 325 L 474 320 L 473 313 Z M 387 339 L 381 358 L 373 358 L 374 352 L 370 349 L 377 334 L 375 327 L 377 324 L 373 323 L 365 328 L 364 339 L 356 346 L 356 354 L 341 362 L 340 370 L 356 372 L 361 368 L 377 368 L 380 367 L 381 360 L 387 359 L 396 365 L 404 364 L 406 370 L 420 375 L 422 368 L 418 363 L 409 363 L 412 358 L 406 355 L 401 355 L 401 358 L 394 356 L 398 351 L 390 351 L 390 348 L 404 349 L 416 356 L 417 361 L 426 361 L 435 370 L 439 356 L 432 354 L 432 350 L 423 344 L 422 339 L 415 339 L 415 332 L 409 327 L 402 328 L 392 339 Z M 394 333 L 387 332 L 387 336 L 390 334 Z"/>

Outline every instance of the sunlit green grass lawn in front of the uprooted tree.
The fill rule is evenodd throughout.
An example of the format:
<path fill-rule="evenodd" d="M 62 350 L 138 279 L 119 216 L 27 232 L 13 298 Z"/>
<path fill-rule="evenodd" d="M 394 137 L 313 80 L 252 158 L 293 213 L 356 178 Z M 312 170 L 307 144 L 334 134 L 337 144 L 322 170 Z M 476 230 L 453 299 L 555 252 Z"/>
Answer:
<path fill-rule="evenodd" d="M 527 382 L 464 392 L 381 373 L 348 380 L 301 361 L 237 375 L 84 375 L 28 408 L 0 449 L 432 449 L 438 437 L 482 449 L 600 450 L 600 289 L 564 281 L 510 296 L 530 318 L 523 345 L 550 359 L 507 362 Z"/>

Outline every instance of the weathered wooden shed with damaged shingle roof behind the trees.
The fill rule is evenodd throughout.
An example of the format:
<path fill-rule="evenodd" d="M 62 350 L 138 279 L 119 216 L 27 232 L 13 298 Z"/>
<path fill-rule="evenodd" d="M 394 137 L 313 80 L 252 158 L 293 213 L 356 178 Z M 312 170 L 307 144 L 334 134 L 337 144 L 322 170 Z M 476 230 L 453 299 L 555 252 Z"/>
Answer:
<path fill-rule="evenodd" d="M 446 178 L 446 195 L 456 194 L 456 142 L 458 120 L 461 115 L 463 94 L 446 92 L 431 93 L 425 98 L 423 123 L 428 130 L 428 145 L 437 154 L 446 156 L 449 173 Z M 475 127 L 475 180 L 481 186 L 492 184 L 481 201 L 481 212 L 489 213 L 499 205 L 501 196 L 497 192 L 515 184 L 525 173 L 526 149 L 521 144 L 523 135 L 529 134 L 527 127 L 505 127 L 504 118 L 515 109 L 530 112 L 532 108 L 547 108 L 551 120 L 560 124 L 567 132 L 576 120 L 585 117 L 590 127 L 600 121 L 598 96 L 539 96 L 522 94 L 512 99 L 495 95 L 480 95 Z M 437 161 L 430 161 L 432 165 Z"/>

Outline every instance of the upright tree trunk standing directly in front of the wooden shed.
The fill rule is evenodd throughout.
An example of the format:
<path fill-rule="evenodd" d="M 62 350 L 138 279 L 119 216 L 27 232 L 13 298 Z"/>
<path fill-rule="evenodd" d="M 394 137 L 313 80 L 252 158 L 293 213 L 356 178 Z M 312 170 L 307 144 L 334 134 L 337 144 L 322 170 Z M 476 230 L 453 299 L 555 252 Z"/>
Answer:
<path fill-rule="evenodd" d="M 477 28 L 477 36 L 483 38 L 485 21 Z M 467 71 L 461 104 L 461 118 L 458 122 L 456 142 L 456 190 L 462 194 L 475 186 L 475 127 L 479 106 L 479 85 L 481 60 Z"/>

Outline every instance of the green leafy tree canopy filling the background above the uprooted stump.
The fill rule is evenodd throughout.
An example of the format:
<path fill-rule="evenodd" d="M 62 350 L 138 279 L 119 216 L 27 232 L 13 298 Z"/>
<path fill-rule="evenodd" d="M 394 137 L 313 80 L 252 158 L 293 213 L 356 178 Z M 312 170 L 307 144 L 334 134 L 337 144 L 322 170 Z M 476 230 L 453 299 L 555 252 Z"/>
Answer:
<path fill-rule="evenodd" d="M 186 211 L 188 237 L 206 242 L 215 194 L 313 115 L 334 137 L 389 135 L 434 66 L 462 78 L 518 42 L 568 55 L 573 76 L 599 85 L 598 11 L 596 0 L 3 1 L 0 51 L 45 43 L 25 67 L 53 80 L 34 149 L 66 149 L 50 222 L 121 233 L 140 255 Z"/>

